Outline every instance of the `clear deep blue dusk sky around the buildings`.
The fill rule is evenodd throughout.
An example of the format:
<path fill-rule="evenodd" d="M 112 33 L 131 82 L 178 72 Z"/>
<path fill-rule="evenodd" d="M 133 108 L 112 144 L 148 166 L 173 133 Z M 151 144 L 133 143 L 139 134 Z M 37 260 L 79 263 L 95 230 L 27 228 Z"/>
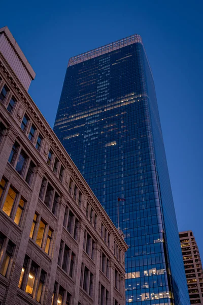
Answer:
<path fill-rule="evenodd" d="M 7 25 L 37 76 L 29 89 L 53 127 L 68 59 L 131 34 L 154 75 L 179 230 L 202 240 L 202 9 L 197 1 L 4 1 Z"/>

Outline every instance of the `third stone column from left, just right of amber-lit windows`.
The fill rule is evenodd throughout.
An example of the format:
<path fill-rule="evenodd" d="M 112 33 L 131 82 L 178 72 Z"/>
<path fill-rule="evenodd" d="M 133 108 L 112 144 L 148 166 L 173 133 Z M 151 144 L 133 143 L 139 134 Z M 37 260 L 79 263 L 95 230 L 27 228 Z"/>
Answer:
<path fill-rule="evenodd" d="M 58 222 L 57 227 L 55 230 L 55 236 L 54 236 L 54 251 L 53 256 L 51 260 L 51 265 L 49 269 L 49 274 L 47 275 L 47 287 L 45 289 L 45 296 L 44 296 L 44 304 L 51 305 L 52 301 L 52 294 L 54 290 L 54 283 L 56 278 L 56 270 L 58 265 L 58 254 L 60 249 L 60 240 L 61 240 L 61 234 L 63 230 L 63 222 L 62 219 L 64 217 L 65 213 L 65 206 L 66 206 L 67 198 L 61 194 L 59 199 L 59 209 L 58 209 Z"/>

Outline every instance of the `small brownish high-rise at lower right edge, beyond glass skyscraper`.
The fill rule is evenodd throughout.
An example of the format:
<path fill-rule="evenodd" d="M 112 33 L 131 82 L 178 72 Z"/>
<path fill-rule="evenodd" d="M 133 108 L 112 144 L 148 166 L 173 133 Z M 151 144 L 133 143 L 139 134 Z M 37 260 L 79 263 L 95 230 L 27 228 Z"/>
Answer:
<path fill-rule="evenodd" d="M 203 270 L 192 231 L 179 233 L 191 304 L 203 304 Z"/>

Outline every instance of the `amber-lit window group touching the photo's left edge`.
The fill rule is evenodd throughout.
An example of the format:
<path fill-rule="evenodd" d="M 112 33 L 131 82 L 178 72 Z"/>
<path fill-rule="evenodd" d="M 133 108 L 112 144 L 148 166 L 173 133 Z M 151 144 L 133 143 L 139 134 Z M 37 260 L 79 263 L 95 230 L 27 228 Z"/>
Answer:
<path fill-rule="evenodd" d="M 4 177 L 0 182 L 0 201 L 1 199 L 3 211 L 20 226 L 25 208 L 25 200 Z"/>

